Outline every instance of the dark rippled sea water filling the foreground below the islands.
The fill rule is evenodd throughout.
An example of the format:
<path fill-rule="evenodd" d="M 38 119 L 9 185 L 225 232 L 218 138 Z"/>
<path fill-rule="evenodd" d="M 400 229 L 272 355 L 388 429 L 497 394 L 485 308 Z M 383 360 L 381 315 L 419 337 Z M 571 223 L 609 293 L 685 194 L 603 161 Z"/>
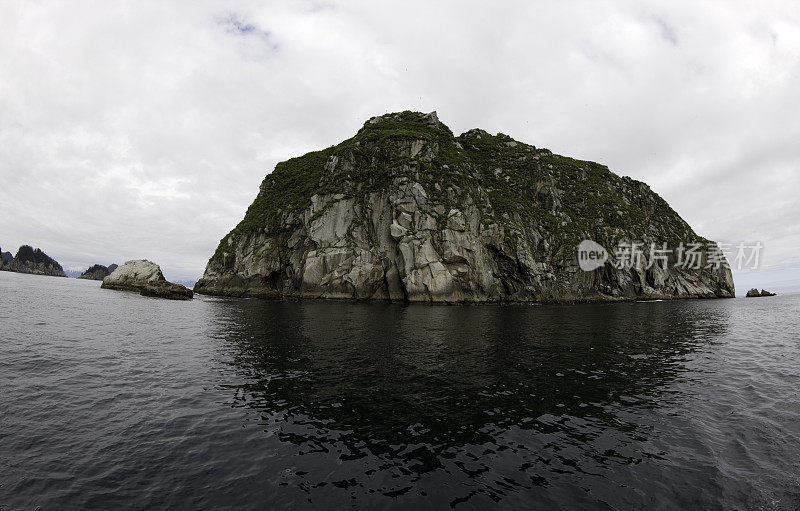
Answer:
<path fill-rule="evenodd" d="M 0 509 L 796 510 L 799 316 L 0 272 Z"/>

